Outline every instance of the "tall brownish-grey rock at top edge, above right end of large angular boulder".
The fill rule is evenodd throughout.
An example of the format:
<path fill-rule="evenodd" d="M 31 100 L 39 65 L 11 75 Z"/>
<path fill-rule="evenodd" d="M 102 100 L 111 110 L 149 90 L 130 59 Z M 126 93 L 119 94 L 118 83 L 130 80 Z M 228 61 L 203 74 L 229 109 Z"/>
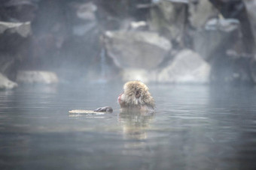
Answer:
<path fill-rule="evenodd" d="M 157 1 L 151 8 L 151 30 L 183 46 L 187 1 Z"/>

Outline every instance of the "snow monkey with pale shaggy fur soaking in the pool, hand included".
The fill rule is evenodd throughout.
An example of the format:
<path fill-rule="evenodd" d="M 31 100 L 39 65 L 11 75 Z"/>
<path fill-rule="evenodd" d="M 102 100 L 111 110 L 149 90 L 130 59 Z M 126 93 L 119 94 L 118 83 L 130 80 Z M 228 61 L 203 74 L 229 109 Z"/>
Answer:
<path fill-rule="evenodd" d="M 147 85 L 139 81 L 126 82 L 123 93 L 117 98 L 122 112 L 153 112 L 154 98 L 148 91 Z M 109 106 L 101 107 L 95 112 L 113 112 Z"/>

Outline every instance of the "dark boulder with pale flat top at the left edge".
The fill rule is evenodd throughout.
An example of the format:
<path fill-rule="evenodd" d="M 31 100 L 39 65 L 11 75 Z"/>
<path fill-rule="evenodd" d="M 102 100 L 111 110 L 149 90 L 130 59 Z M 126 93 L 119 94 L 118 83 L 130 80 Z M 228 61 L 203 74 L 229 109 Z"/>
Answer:
<path fill-rule="evenodd" d="M 20 63 L 27 58 L 30 22 L 0 22 L 0 72 L 14 80 Z"/>

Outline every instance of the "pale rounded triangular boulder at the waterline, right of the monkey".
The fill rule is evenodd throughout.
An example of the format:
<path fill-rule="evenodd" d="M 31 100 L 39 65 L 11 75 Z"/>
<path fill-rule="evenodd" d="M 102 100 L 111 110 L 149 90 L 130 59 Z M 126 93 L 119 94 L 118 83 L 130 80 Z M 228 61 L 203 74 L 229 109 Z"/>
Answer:
<path fill-rule="evenodd" d="M 209 83 L 210 66 L 196 52 L 184 49 L 158 75 L 158 82 Z"/>

